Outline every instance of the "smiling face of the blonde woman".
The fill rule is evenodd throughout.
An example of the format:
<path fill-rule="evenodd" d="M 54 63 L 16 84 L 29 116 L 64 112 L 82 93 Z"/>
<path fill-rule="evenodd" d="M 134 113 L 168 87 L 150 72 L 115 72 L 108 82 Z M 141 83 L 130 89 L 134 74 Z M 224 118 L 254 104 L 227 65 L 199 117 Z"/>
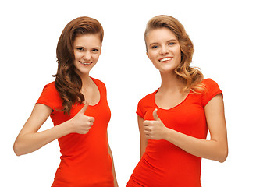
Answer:
<path fill-rule="evenodd" d="M 180 44 L 171 30 L 151 30 L 146 37 L 146 44 L 148 58 L 160 72 L 173 72 L 180 65 Z"/>

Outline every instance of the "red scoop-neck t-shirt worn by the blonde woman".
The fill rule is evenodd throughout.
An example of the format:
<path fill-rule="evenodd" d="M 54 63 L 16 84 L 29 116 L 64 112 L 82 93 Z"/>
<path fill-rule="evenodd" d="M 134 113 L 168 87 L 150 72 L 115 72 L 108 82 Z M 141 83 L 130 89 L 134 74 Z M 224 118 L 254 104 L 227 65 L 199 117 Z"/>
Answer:
<path fill-rule="evenodd" d="M 208 126 L 204 106 L 215 95 L 222 94 L 212 79 L 204 79 L 206 90 L 200 94 L 190 92 L 186 99 L 168 110 L 155 104 L 156 90 L 140 100 L 137 115 L 153 120 L 153 111 L 166 127 L 198 139 L 206 139 Z M 166 140 L 148 139 L 148 145 L 140 162 L 130 177 L 129 187 L 199 187 L 201 186 L 201 157 L 181 150 Z"/>

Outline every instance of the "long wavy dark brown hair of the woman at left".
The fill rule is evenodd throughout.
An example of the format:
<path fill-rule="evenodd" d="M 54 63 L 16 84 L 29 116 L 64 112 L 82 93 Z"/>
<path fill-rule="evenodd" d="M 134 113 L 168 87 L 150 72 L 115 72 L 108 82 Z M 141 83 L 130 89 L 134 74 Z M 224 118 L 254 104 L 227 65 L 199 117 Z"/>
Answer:
<path fill-rule="evenodd" d="M 104 30 L 98 20 L 82 16 L 69 22 L 59 37 L 56 49 L 58 69 L 54 77 L 55 87 L 62 98 L 61 111 L 65 115 L 70 115 L 73 104 L 82 104 L 84 101 L 84 95 L 80 93 L 82 80 L 73 65 L 73 42 L 81 34 L 99 34 L 102 42 Z"/>

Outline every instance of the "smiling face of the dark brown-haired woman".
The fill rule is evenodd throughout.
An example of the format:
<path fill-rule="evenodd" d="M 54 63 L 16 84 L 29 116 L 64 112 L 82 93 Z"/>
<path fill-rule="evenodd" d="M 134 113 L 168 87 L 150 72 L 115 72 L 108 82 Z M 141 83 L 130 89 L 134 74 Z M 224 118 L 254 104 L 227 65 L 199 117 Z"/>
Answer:
<path fill-rule="evenodd" d="M 99 34 L 78 35 L 73 42 L 75 55 L 74 65 L 78 75 L 89 75 L 90 70 L 98 62 L 101 55 L 101 39 Z"/>

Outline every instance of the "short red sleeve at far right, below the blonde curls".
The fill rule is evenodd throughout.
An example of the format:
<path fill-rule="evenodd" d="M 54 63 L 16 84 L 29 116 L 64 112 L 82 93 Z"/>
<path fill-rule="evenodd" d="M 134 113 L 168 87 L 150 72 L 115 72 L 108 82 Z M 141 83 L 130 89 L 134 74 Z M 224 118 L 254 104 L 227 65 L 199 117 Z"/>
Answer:
<path fill-rule="evenodd" d="M 205 91 L 202 96 L 202 104 L 205 107 L 209 101 L 212 100 L 218 94 L 222 94 L 222 90 L 219 89 L 219 85 L 212 79 L 204 79 Z M 222 94 L 223 97 L 223 94 Z"/>

